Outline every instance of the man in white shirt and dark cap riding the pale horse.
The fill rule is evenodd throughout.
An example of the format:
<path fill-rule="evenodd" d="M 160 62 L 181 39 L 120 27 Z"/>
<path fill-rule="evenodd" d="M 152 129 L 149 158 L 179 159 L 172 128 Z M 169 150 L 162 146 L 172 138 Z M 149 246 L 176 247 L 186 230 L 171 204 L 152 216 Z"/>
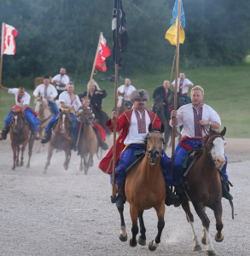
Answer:
<path fill-rule="evenodd" d="M 47 99 L 49 106 L 52 108 L 54 113 L 59 113 L 59 109 L 55 104 L 55 97 L 57 96 L 57 91 L 52 84 L 49 84 L 49 76 L 44 77 L 44 84 L 38 85 L 36 90 L 34 90 L 33 95 L 37 98 L 39 96 Z"/>

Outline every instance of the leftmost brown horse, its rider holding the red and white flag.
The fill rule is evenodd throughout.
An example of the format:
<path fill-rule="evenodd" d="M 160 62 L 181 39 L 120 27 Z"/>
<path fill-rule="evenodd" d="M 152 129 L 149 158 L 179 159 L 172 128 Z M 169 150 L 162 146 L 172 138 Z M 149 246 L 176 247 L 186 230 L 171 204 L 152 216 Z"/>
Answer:
<path fill-rule="evenodd" d="M 29 125 L 26 124 L 24 114 L 20 108 L 16 108 L 15 112 L 12 111 L 12 120 L 10 123 L 9 135 L 11 140 L 11 148 L 13 150 L 13 166 L 12 170 L 15 170 L 15 166 L 23 166 L 23 154 L 27 143 L 29 144 L 29 160 L 26 168 L 30 167 L 30 160 L 32 157 L 32 148 L 35 138 L 29 132 Z M 20 148 L 21 145 L 21 148 Z M 19 153 L 21 150 L 20 164 Z"/>

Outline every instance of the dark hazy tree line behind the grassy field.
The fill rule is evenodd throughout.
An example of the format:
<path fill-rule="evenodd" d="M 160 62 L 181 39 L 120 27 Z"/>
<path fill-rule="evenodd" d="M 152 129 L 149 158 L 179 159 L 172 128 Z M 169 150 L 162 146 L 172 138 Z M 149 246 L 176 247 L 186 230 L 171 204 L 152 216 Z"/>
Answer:
<path fill-rule="evenodd" d="M 123 0 L 130 43 L 123 55 L 127 72 L 154 72 L 172 63 L 166 41 L 174 0 Z M 183 65 L 234 65 L 250 49 L 250 4 L 246 0 L 183 0 L 186 39 Z M 2 0 L 0 17 L 15 26 L 17 51 L 3 57 L 3 77 L 90 73 L 99 33 L 112 48 L 113 0 Z M 108 58 L 108 69 L 113 69 Z"/>

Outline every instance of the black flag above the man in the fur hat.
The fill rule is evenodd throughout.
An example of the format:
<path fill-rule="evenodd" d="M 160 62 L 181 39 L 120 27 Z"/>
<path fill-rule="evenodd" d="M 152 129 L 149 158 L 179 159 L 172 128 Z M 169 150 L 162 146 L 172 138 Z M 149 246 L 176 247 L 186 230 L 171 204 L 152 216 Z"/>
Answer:
<path fill-rule="evenodd" d="M 119 11 L 118 11 L 118 2 L 119 2 Z M 117 15 L 119 13 L 119 16 Z M 117 19 L 119 17 L 119 19 Z M 129 42 L 128 32 L 125 30 L 125 11 L 122 6 L 121 0 L 114 0 L 113 4 L 113 16 L 112 16 L 112 36 L 113 36 L 113 62 L 118 64 L 119 67 L 122 67 L 121 54 L 125 51 L 125 48 Z M 119 26 L 119 27 L 117 27 Z M 119 31 L 117 31 L 119 29 Z"/>

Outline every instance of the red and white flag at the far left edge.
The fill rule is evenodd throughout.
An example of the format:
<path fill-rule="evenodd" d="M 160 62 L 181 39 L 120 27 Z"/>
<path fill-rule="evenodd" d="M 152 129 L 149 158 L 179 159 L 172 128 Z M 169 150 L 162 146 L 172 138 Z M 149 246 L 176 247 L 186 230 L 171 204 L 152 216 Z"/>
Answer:
<path fill-rule="evenodd" d="M 18 31 L 15 27 L 3 23 L 1 55 L 15 55 L 15 37 Z"/>

